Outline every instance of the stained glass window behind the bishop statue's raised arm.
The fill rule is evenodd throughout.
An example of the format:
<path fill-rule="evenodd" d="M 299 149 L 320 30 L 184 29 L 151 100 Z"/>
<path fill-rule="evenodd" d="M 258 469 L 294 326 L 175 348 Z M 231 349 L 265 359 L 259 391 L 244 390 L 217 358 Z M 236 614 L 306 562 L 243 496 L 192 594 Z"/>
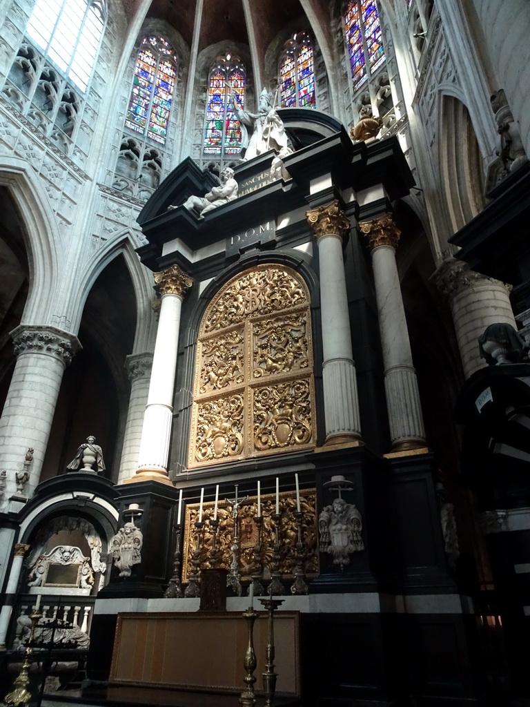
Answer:
<path fill-rule="evenodd" d="M 241 151 L 240 124 L 234 115 L 230 90 L 232 86 L 237 106 L 245 105 L 245 69 L 230 55 L 220 60 L 211 73 L 206 103 L 204 154 L 238 155 Z"/>

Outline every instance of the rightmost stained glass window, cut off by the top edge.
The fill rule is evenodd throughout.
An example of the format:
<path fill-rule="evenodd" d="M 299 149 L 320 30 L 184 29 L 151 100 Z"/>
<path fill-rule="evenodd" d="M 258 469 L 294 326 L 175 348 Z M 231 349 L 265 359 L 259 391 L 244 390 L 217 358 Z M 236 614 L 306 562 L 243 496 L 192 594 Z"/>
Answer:
<path fill-rule="evenodd" d="M 375 0 L 351 0 L 344 18 L 354 90 L 384 64 L 384 47 Z"/>

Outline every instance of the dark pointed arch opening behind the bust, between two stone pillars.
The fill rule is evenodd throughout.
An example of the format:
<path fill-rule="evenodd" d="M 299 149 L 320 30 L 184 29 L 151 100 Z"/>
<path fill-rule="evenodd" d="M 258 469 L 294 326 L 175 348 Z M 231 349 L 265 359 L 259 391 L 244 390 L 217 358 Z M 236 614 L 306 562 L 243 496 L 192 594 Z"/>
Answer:
<path fill-rule="evenodd" d="M 78 333 L 83 349 L 64 372 L 41 481 L 64 473 L 88 435 L 102 448 L 104 475 L 117 480 L 129 397 L 124 364 L 135 329 L 134 286 L 119 255 L 88 293 Z"/>

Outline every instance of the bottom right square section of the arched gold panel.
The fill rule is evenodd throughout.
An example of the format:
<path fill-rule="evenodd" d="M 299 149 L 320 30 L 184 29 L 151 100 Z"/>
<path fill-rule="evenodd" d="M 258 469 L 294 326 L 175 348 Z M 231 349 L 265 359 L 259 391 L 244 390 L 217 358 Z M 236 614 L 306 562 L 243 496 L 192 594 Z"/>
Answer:
<path fill-rule="evenodd" d="M 308 445 L 312 433 L 310 380 L 299 379 L 253 390 L 254 450 Z"/>

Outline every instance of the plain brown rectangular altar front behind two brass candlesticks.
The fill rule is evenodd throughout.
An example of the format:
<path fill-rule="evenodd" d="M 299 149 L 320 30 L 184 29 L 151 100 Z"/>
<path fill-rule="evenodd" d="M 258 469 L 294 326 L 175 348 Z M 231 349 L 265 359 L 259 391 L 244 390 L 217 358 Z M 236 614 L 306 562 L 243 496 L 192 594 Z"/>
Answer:
<path fill-rule="evenodd" d="M 240 693 L 248 643 L 241 614 L 118 614 L 109 684 Z M 300 696 L 298 612 L 275 612 L 276 694 Z M 254 624 L 257 668 L 265 670 L 267 615 Z M 261 679 L 256 683 L 259 694 Z"/>

